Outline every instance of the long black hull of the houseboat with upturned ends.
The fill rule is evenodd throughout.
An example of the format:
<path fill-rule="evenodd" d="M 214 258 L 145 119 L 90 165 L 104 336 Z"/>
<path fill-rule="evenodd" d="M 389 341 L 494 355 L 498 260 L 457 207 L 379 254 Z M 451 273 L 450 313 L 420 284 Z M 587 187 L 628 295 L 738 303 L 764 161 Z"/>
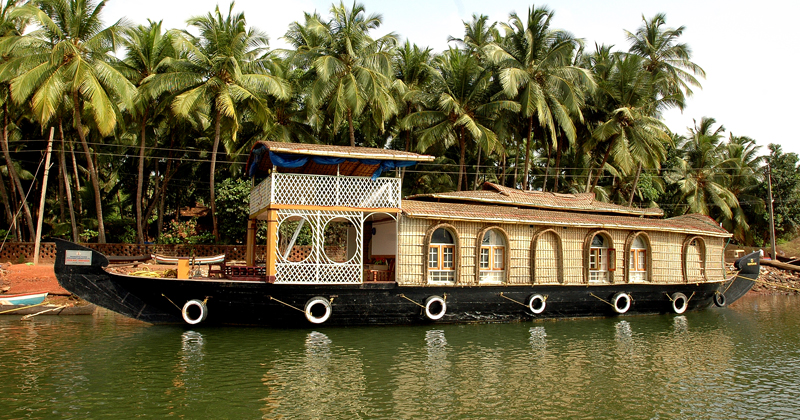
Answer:
<path fill-rule="evenodd" d="M 674 293 L 688 297 L 687 310 L 711 306 L 715 295 L 726 293 L 733 303 L 753 285 L 758 265 L 746 266 L 731 280 L 700 284 L 526 285 L 473 287 L 409 287 L 396 283 L 358 285 L 285 285 L 252 281 L 178 280 L 115 275 L 102 267 L 100 253 L 57 241 L 55 272 L 62 287 L 98 306 L 149 323 L 184 323 L 181 308 L 192 299 L 204 301 L 202 325 L 312 326 L 304 307 L 314 297 L 331 300 L 324 325 L 423 324 L 431 322 L 507 322 L 562 317 L 618 316 L 611 304 L 615 294 L 632 298 L 629 314 L 673 312 Z M 91 265 L 66 265 L 65 251 L 91 251 Z M 748 256 L 749 257 L 749 256 Z M 745 257 L 745 258 L 748 258 Z M 758 261 L 756 259 L 756 261 Z M 546 308 L 534 315 L 527 306 L 531 295 L 546 297 Z M 431 321 L 421 305 L 430 296 L 446 301 L 445 315 Z"/>

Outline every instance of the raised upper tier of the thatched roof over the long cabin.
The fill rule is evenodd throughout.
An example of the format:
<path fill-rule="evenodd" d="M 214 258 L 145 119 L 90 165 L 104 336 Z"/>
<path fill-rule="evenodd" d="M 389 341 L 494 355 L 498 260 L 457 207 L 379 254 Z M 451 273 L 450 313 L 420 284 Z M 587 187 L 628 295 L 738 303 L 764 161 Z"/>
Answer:
<path fill-rule="evenodd" d="M 480 191 L 454 191 L 419 194 L 408 200 L 490 203 L 573 212 L 612 213 L 632 216 L 661 217 L 659 208 L 635 208 L 595 200 L 593 193 L 558 194 L 542 191 L 522 191 L 491 182 L 484 182 Z"/>

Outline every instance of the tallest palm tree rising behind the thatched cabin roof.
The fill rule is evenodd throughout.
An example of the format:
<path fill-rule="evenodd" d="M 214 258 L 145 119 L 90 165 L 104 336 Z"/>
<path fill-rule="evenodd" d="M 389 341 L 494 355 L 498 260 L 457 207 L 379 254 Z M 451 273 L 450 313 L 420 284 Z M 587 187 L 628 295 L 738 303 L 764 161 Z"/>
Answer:
<path fill-rule="evenodd" d="M 580 41 L 565 31 L 551 29 L 552 18 L 553 12 L 546 7 L 529 8 L 525 20 L 511 13 L 509 23 L 501 24 L 505 36 L 485 48 L 501 69 L 504 93 L 519 103 L 520 112 L 527 119 L 525 188 L 529 185 L 534 118 L 549 136 L 549 141 L 543 141 L 549 163 L 550 145 L 557 141 L 559 132 L 569 143 L 575 141 L 572 117 L 583 120 L 584 93 L 594 87 L 591 72 L 572 65 Z"/>

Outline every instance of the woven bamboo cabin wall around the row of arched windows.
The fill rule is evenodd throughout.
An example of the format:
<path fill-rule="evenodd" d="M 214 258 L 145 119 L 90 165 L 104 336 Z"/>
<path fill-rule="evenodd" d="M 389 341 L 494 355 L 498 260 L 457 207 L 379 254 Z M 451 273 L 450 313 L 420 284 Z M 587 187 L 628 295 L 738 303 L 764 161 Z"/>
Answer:
<path fill-rule="evenodd" d="M 412 219 L 402 216 L 398 236 L 398 261 L 397 279 L 401 285 L 425 285 L 425 255 L 426 235 L 442 222 L 426 219 Z M 508 265 L 507 283 L 512 285 L 539 283 L 558 283 L 559 268 L 557 264 L 557 242 L 561 241 L 562 271 L 561 278 L 564 284 L 586 284 L 584 267 L 588 264 L 585 247 L 590 235 L 602 234 L 610 242 L 609 247 L 614 248 L 616 270 L 609 273 L 609 281 L 622 283 L 626 281 L 625 270 L 628 269 L 628 252 L 626 241 L 629 241 L 631 231 L 628 230 L 590 230 L 586 228 L 556 228 L 541 234 L 537 239 L 536 253 L 534 255 L 533 238 L 538 232 L 546 230 L 547 226 L 499 224 L 490 225 L 471 222 L 448 222 L 447 226 L 454 230 L 457 236 L 456 252 L 457 274 L 456 283 L 460 285 L 478 284 L 476 272 L 476 245 L 477 237 L 489 227 L 496 227 L 508 235 Z M 649 271 L 648 282 L 652 283 L 680 283 L 683 282 L 683 244 L 687 240 L 685 234 L 666 232 L 647 232 L 650 249 L 648 252 Z M 560 238 L 559 238 L 560 237 Z M 692 282 L 718 281 L 724 277 L 723 245 L 721 238 L 701 237 L 705 245 L 703 255 L 697 254 L 694 258 L 698 268 L 704 261 L 706 276 L 701 279 L 694 276 Z M 703 248 L 698 247 L 698 248 Z M 531 261 L 535 258 L 535 264 Z M 690 258 L 692 260 L 692 258 Z M 690 261 L 690 264 L 692 262 Z M 532 276 L 532 267 L 536 273 Z"/>

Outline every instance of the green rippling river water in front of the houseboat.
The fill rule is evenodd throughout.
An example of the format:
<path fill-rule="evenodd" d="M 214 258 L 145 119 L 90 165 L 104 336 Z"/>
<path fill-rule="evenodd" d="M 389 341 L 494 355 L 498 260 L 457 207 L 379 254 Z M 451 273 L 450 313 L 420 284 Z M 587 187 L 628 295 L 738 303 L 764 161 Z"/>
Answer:
<path fill-rule="evenodd" d="M 800 418 L 800 298 L 414 327 L 0 317 L 0 418 Z"/>

